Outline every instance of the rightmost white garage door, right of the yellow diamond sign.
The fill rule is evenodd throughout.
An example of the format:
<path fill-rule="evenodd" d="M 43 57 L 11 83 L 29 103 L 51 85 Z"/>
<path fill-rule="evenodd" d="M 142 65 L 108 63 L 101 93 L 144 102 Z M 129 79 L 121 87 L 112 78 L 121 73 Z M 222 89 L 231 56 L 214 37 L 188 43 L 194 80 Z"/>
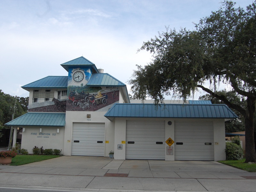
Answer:
<path fill-rule="evenodd" d="M 175 160 L 214 160 L 212 121 L 175 121 Z"/>

